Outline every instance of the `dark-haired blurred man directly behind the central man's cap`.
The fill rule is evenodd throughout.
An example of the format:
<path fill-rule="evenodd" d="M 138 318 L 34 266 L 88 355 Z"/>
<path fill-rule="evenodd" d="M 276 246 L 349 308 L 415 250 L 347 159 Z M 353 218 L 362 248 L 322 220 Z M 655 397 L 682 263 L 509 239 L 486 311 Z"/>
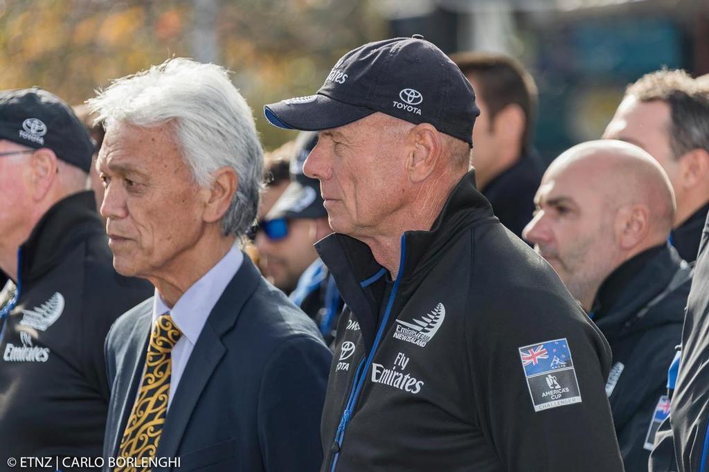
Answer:
<path fill-rule="evenodd" d="M 521 236 L 544 174 L 532 145 L 537 86 L 530 72 L 508 55 L 462 52 L 452 60 L 472 84 L 480 108 L 473 128 L 476 186 L 500 223 Z"/>

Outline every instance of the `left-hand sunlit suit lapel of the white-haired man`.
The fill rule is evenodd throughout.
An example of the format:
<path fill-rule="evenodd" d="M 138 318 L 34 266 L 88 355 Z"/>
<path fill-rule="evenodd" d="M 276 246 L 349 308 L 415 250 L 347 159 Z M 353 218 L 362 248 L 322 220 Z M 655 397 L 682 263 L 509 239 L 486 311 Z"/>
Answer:
<path fill-rule="evenodd" d="M 152 303 L 148 306 L 150 308 L 145 313 L 141 313 L 135 320 L 133 331 L 130 332 L 130 337 L 128 338 L 128 347 L 125 353 L 126 355 L 133 354 L 135 361 L 133 366 L 126 366 L 125 369 L 126 373 L 130 373 L 130 381 L 128 383 L 128 391 L 123 396 L 125 400 L 121 408 L 121 415 L 116 428 L 113 429 L 113 438 L 111 439 L 113 442 L 113 448 L 111 449 L 113 457 L 118 454 L 118 446 L 121 445 L 123 429 L 125 429 L 125 424 L 128 422 L 130 410 L 133 410 L 135 395 L 138 394 L 138 386 L 140 386 L 140 381 L 143 377 L 143 366 L 145 364 L 145 355 L 147 354 L 147 343 L 150 341 L 150 325 L 152 324 Z"/>

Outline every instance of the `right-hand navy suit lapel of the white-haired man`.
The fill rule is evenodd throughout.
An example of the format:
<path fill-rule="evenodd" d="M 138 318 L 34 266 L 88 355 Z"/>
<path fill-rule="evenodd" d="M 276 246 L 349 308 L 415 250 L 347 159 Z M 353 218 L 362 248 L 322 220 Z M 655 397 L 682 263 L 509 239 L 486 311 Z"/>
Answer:
<path fill-rule="evenodd" d="M 199 397 L 227 349 L 221 337 L 236 323 L 261 275 L 247 256 L 207 318 L 167 412 L 156 457 L 178 456 L 179 444 Z"/>

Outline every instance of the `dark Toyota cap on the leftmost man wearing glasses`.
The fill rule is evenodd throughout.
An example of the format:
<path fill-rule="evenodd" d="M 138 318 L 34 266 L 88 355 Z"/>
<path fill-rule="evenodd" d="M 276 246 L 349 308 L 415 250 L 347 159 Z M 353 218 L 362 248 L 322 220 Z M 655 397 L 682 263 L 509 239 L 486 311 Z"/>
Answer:
<path fill-rule="evenodd" d="M 47 147 L 62 161 L 84 172 L 91 169 L 89 130 L 64 101 L 36 87 L 0 91 L 0 140 Z"/>

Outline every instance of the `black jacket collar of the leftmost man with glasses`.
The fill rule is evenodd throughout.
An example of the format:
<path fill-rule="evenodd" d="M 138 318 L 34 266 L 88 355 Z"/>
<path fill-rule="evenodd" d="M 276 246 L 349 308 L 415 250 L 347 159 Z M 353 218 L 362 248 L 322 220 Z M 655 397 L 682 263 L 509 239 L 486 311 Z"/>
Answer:
<path fill-rule="evenodd" d="M 82 191 L 55 203 L 38 221 L 20 247 L 23 282 L 38 279 L 61 262 L 87 234 L 103 233 L 94 192 Z"/>

